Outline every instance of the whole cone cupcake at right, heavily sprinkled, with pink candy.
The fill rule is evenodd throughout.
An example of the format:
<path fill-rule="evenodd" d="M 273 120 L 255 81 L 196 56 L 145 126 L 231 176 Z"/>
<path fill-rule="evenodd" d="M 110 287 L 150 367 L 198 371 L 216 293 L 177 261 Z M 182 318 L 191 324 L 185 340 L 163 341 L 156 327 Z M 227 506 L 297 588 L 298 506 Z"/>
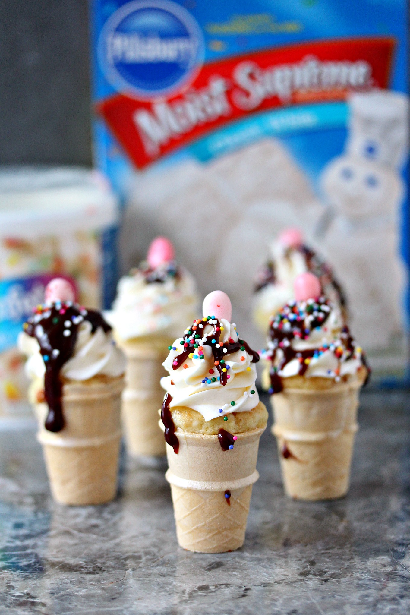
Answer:
<path fill-rule="evenodd" d="M 313 274 L 294 282 L 296 299 L 272 317 L 262 354 L 288 496 L 332 499 L 349 490 L 358 392 L 369 368 Z"/>

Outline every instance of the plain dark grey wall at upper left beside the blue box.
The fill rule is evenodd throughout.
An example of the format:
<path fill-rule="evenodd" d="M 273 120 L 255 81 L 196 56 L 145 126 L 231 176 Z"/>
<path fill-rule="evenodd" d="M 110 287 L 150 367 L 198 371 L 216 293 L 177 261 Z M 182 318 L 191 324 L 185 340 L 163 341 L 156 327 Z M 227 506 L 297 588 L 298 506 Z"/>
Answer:
<path fill-rule="evenodd" d="M 0 62 L 0 164 L 90 167 L 87 0 L 2 0 Z"/>

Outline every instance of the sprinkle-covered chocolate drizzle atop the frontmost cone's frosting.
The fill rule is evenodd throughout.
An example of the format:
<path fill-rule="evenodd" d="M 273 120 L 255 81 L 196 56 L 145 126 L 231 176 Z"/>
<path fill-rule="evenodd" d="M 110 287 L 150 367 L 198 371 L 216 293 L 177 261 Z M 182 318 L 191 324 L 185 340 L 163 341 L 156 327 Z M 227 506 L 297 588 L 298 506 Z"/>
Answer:
<path fill-rule="evenodd" d="M 210 323 L 208 322 L 209 320 L 212 320 L 213 322 Z M 202 325 L 202 328 L 200 325 Z M 207 333 L 207 339 L 203 342 L 202 338 L 205 337 L 203 330 L 205 327 L 213 327 L 213 331 L 212 333 Z M 191 352 L 196 352 L 200 346 L 211 347 L 214 364 L 219 372 L 220 383 L 222 386 L 225 386 L 228 381 L 228 373 L 227 371 L 223 371 L 225 358 L 227 355 L 239 350 L 246 351 L 251 355 L 252 363 L 258 363 L 258 352 L 252 350 L 243 339 L 238 339 L 237 342 L 234 342 L 234 340 L 230 338 L 229 342 L 222 343 L 219 341 L 221 333 L 221 323 L 217 318 L 214 319 L 211 316 L 207 316 L 206 319 L 194 320 L 193 325 L 189 328 L 188 333 L 184 335 L 183 342 L 181 343 L 181 345 L 183 344 L 184 346 L 183 352 L 175 357 L 172 362 L 173 370 L 178 370 L 178 367 L 181 367 L 188 355 L 191 354 Z M 194 336 L 194 339 L 190 339 L 192 335 Z M 215 343 L 212 343 L 213 339 L 215 339 Z M 217 346 L 219 346 L 219 348 Z M 224 350 L 226 350 L 226 352 L 224 352 Z"/>

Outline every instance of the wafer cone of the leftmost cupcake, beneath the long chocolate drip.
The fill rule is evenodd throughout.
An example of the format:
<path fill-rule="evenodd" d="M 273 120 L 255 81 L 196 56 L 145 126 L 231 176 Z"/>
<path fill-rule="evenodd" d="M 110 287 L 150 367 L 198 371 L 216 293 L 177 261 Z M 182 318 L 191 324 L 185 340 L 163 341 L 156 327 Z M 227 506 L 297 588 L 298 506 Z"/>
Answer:
<path fill-rule="evenodd" d="M 39 404 L 42 444 L 53 498 L 81 506 L 112 500 L 117 489 L 120 394 L 124 378 L 92 378 L 63 386 L 65 427 L 44 429 L 47 405 Z"/>

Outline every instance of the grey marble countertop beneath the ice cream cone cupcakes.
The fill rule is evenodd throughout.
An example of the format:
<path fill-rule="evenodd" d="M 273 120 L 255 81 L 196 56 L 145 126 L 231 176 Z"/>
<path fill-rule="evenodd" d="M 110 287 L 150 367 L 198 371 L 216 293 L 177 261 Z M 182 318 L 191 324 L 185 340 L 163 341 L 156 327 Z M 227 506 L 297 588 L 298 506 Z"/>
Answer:
<path fill-rule="evenodd" d="M 283 494 L 262 436 L 245 544 L 218 555 L 176 542 L 164 465 L 122 456 L 107 506 L 50 498 L 34 430 L 0 432 L 0 613 L 361 615 L 410 612 L 410 404 L 361 397 L 349 495 Z"/>

